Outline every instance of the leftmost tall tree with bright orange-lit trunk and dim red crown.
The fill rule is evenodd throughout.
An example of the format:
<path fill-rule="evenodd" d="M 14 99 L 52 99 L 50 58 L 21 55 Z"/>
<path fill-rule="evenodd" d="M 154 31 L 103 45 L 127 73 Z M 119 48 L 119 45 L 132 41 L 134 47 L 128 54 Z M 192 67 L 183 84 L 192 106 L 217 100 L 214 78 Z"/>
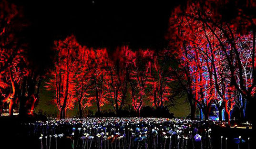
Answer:
<path fill-rule="evenodd" d="M 19 84 L 27 74 L 26 48 L 19 36 L 27 25 L 22 22 L 22 12 L 13 3 L 6 0 L 0 2 L 0 98 L 2 105 L 9 107 L 9 115 L 14 107 L 18 107 Z M 23 65 L 25 64 L 25 65 Z M 22 109 L 24 106 L 20 105 Z"/>

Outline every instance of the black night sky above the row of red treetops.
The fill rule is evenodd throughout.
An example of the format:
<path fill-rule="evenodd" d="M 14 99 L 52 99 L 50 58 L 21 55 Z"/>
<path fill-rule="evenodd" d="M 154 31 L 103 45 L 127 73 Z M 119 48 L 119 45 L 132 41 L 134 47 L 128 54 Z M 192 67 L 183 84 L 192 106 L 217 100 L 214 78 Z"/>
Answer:
<path fill-rule="evenodd" d="M 31 23 L 28 37 L 41 50 L 74 34 L 88 47 L 162 48 L 173 7 L 180 0 L 17 0 Z"/>

